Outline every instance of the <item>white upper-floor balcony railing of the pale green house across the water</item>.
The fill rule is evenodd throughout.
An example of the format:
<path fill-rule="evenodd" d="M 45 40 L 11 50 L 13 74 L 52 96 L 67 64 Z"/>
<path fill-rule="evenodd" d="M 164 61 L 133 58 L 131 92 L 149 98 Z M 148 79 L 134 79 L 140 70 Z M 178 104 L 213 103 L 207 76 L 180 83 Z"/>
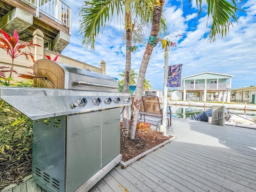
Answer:
<path fill-rule="evenodd" d="M 208 83 L 208 84 L 185 84 L 178 87 L 178 90 L 226 90 L 230 87 L 229 83 Z"/>

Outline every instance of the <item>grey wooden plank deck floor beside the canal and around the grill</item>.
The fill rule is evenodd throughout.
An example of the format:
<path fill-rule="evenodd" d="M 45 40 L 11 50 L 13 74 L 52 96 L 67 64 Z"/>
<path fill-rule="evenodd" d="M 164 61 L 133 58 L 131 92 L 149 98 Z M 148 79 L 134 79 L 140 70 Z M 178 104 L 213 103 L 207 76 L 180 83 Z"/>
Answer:
<path fill-rule="evenodd" d="M 256 192 L 255 129 L 172 118 L 167 133 L 178 138 L 112 169 L 90 192 Z M 43 190 L 28 180 L 9 191 Z"/>

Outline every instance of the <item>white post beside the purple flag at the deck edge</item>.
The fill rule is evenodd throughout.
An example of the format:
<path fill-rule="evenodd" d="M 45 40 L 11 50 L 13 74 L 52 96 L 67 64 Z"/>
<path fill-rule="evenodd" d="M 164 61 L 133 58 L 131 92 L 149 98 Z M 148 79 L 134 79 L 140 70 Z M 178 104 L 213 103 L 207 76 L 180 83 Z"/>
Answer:
<path fill-rule="evenodd" d="M 164 126 L 164 135 L 167 136 L 166 134 L 166 129 L 167 129 L 167 92 L 168 92 L 168 87 L 166 87 L 167 84 L 167 78 L 168 78 L 168 62 L 169 62 L 169 50 L 166 49 L 164 51 L 164 101 L 163 101 L 163 126 Z M 170 122 L 169 122 L 170 123 Z"/>

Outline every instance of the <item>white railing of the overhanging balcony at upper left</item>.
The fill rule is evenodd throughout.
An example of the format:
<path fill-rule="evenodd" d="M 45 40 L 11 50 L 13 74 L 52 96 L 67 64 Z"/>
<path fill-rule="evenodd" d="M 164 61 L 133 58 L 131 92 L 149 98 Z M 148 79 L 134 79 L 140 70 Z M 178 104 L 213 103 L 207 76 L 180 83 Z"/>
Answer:
<path fill-rule="evenodd" d="M 71 8 L 61 0 L 21 0 L 32 8 L 36 9 L 36 16 L 39 12 L 55 20 L 56 22 L 68 26 L 71 35 Z"/>

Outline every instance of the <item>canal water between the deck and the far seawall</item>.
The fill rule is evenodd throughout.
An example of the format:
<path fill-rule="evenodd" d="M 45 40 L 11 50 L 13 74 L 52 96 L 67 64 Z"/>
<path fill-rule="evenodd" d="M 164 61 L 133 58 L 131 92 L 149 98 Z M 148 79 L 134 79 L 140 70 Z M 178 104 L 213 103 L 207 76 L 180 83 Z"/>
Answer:
<path fill-rule="evenodd" d="M 179 106 L 179 105 L 170 105 L 172 108 L 172 116 L 178 118 L 188 118 L 190 115 L 201 114 L 204 110 L 210 109 L 209 107 L 195 107 L 195 106 Z M 252 115 L 256 116 L 256 111 L 246 110 L 236 110 L 228 109 L 231 113 L 238 115 Z"/>

